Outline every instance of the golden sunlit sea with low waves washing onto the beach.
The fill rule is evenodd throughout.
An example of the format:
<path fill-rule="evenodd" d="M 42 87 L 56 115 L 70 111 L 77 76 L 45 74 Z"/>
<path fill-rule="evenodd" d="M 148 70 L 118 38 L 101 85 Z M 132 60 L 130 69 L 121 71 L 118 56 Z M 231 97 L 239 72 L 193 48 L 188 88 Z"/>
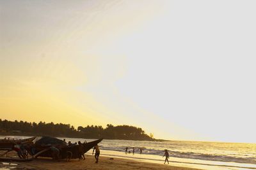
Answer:
<path fill-rule="evenodd" d="M 27 138 L 12 136 L 13 138 Z M 63 139 L 63 138 L 60 138 Z M 65 138 L 66 141 L 93 139 Z M 104 139 L 100 154 L 144 162 L 163 164 L 164 149 L 170 153 L 170 164 L 200 169 L 256 169 L 256 143 L 219 143 L 200 141 L 128 141 Z M 125 147 L 135 147 L 135 153 L 125 153 Z M 140 149 L 143 152 L 140 154 Z M 92 154 L 91 151 L 88 153 Z"/>

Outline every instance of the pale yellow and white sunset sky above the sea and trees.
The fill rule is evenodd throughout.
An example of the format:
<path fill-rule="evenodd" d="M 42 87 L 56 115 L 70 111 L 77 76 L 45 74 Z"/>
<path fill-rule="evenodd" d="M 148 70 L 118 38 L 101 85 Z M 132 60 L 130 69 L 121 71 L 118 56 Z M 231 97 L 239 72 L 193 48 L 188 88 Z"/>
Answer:
<path fill-rule="evenodd" d="M 255 1 L 0 1 L 2 119 L 256 143 Z"/>

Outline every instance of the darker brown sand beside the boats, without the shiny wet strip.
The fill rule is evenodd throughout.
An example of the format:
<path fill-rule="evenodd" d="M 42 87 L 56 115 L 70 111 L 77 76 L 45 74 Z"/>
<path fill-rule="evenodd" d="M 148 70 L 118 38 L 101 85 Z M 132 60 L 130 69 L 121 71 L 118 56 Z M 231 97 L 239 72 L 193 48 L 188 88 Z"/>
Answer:
<path fill-rule="evenodd" d="M 15 156 L 15 152 L 8 153 L 7 157 Z M 0 161 L 1 162 L 1 161 Z M 3 161 L 2 161 L 3 162 Z M 176 167 L 171 165 L 153 164 L 138 162 L 129 159 L 118 159 L 100 156 L 99 163 L 95 164 L 93 155 L 86 155 L 85 160 L 72 159 L 66 162 L 65 159 L 56 161 L 52 159 L 38 158 L 29 162 L 12 162 L 18 164 L 16 167 L 22 169 L 175 169 L 193 170 L 188 167 Z M 3 166 L 3 165 L 2 165 Z M 0 166 L 1 167 L 1 166 Z M 5 167 L 8 167 L 6 165 Z"/>

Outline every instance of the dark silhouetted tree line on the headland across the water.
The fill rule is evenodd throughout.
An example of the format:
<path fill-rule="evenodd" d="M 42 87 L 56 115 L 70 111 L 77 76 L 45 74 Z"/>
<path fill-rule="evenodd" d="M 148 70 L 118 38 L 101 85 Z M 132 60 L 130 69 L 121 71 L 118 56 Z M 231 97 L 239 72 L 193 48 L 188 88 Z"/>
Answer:
<path fill-rule="evenodd" d="M 108 124 L 106 128 L 101 125 L 79 126 L 77 129 L 70 124 L 54 124 L 39 122 L 14 122 L 0 119 L 0 134 L 2 135 L 26 135 L 26 136 L 57 136 L 67 138 L 104 138 L 154 141 L 153 135 L 148 136 L 140 127 L 129 125 L 113 126 Z"/>

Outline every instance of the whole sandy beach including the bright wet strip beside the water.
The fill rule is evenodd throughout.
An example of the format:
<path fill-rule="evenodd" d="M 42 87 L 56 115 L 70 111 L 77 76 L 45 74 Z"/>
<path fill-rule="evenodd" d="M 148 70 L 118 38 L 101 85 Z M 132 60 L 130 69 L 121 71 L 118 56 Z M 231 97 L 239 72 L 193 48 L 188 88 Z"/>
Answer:
<path fill-rule="evenodd" d="M 104 151 L 104 150 L 102 150 Z M 0 151 L 0 154 L 4 151 Z M 171 169 L 171 170 L 198 170 L 198 169 L 227 169 L 232 168 L 236 170 L 244 169 L 246 167 L 239 166 L 224 166 L 224 165 L 211 165 L 211 164 L 197 164 L 191 162 L 177 162 L 175 160 L 169 160 L 170 164 L 163 164 L 161 162 L 148 162 L 148 160 L 138 160 L 132 158 L 122 158 L 115 155 L 102 154 L 99 157 L 99 164 L 95 164 L 95 158 L 92 153 L 88 152 L 84 154 L 85 160 L 71 159 L 67 162 L 66 159 L 52 160 L 51 158 L 38 157 L 33 159 L 29 156 L 29 161 L 20 162 L 17 153 L 9 152 L 3 160 L 0 160 L 0 169 Z M 10 161 L 8 161 L 10 160 Z M 22 160 L 22 159 L 20 159 Z M 251 169 L 256 169 L 252 167 Z"/>

